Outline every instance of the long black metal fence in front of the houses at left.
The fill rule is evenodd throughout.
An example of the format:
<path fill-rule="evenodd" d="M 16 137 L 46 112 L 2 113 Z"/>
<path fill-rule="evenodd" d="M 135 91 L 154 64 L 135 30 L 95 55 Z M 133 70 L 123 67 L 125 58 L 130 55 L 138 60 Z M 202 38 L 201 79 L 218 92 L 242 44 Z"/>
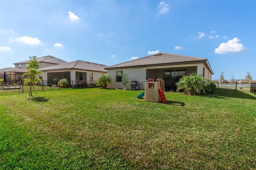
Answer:
<path fill-rule="evenodd" d="M 46 81 L 42 80 L 32 86 L 32 90 L 37 91 L 48 91 L 48 90 L 64 90 L 68 88 L 92 88 L 96 87 L 96 81 L 68 81 L 66 87 L 61 86 L 59 81 Z M 18 94 L 29 92 L 30 86 L 24 84 L 23 81 L 12 83 L 10 81 L 0 82 L 0 95 L 4 94 Z"/>

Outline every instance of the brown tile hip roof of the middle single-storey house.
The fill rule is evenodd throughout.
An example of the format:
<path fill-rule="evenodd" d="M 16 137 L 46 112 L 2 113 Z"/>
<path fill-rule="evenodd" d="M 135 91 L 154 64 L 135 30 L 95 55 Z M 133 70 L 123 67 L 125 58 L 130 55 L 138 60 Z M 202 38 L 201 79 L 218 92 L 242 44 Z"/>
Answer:
<path fill-rule="evenodd" d="M 54 66 L 48 66 L 44 68 L 39 68 L 40 71 L 50 71 L 50 70 L 70 70 L 70 69 L 80 69 L 80 70 L 92 70 L 99 72 L 107 72 L 104 68 L 106 65 L 96 64 L 87 61 L 72 61 L 69 63 L 57 64 Z"/>

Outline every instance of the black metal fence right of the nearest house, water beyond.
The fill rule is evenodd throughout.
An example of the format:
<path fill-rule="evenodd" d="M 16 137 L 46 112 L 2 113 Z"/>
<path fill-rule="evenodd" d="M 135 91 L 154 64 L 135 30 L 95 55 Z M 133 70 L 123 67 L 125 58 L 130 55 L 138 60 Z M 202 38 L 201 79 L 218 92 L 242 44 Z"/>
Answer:
<path fill-rule="evenodd" d="M 255 94 L 256 83 L 240 83 L 240 82 L 220 83 L 220 82 L 216 82 L 215 84 L 216 84 L 217 90 L 252 92 L 252 90 L 254 89 L 254 92 L 252 92 L 252 93 Z"/>

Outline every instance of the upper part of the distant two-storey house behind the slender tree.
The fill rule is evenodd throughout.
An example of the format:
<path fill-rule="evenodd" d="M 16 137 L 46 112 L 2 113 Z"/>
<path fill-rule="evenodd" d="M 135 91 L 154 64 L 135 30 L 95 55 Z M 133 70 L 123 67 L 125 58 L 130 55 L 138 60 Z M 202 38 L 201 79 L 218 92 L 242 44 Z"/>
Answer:
<path fill-rule="evenodd" d="M 56 57 L 52 57 L 50 55 L 36 58 L 36 60 L 39 62 L 39 68 L 53 66 L 53 65 L 56 65 L 56 64 L 67 63 L 66 61 L 63 61 L 63 60 L 58 59 Z M 26 66 L 28 66 L 29 61 L 30 60 L 26 60 L 26 61 L 21 61 L 21 62 L 18 62 L 18 63 L 13 63 L 13 64 L 15 65 L 15 68 L 25 68 L 26 69 Z"/>

